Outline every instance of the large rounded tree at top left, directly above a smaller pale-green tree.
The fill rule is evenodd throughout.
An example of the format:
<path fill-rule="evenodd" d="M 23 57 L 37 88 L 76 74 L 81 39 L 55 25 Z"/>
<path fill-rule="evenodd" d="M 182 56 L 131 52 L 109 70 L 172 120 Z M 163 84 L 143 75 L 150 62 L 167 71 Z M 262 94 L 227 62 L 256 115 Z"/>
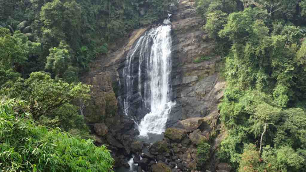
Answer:
<path fill-rule="evenodd" d="M 80 34 L 81 8 L 74 0 L 54 0 L 45 3 L 40 11 L 40 21 L 43 33 L 43 43 L 46 47 L 56 47 L 61 40 L 78 47 Z"/>

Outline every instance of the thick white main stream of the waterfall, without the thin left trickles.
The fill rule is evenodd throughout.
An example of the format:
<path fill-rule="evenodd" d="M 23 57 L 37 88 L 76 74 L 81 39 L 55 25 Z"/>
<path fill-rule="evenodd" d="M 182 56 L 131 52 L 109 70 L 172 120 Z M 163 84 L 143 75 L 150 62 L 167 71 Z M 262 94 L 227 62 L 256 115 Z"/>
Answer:
<path fill-rule="evenodd" d="M 165 131 L 168 114 L 173 106 L 170 100 L 171 87 L 171 26 L 153 28 L 149 35 L 153 39 L 150 61 L 150 107 L 139 125 L 140 136 L 147 133 L 161 134 Z"/>

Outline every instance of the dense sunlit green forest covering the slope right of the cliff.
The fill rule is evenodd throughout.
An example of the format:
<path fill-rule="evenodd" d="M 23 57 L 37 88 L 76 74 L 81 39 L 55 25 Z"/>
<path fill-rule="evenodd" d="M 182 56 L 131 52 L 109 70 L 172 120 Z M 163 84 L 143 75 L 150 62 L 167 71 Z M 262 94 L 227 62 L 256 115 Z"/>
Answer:
<path fill-rule="evenodd" d="M 305 3 L 198 1 L 226 65 L 219 158 L 238 171 L 305 171 Z"/>

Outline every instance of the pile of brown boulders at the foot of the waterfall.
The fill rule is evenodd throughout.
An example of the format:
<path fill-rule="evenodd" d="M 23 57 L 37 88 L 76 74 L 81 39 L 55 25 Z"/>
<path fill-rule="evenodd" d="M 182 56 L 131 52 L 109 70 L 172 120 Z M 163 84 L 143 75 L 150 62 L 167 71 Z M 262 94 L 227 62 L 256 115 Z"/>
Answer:
<path fill-rule="evenodd" d="M 218 147 L 215 139 L 209 138 L 218 130 L 218 114 L 211 113 L 204 118 L 190 118 L 178 122 L 165 132 L 165 137 L 162 141 L 158 141 L 152 145 L 148 145 L 148 150 L 143 149 L 143 153 L 137 153 L 143 157 L 140 161 L 142 170 L 153 171 L 156 163 L 167 165 L 171 171 L 185 172 L 196 169 L 206 168 L 215 171 L 215 169 L 225 169 L 225 165 L 211 167 L 210 162 L 199 162 L 198 145 L 200 142 L 210 143 L 211 145 L 211 160 L 214 160 L 215 148 Z M 177 128 L 178 127 L 178 128 Z M 134 158 L 135 159 L 135 158 Z M 136 162 L 138 162 L 136 160 Z M 152 165 L 153 164 L 153 165 Z M 145 169 L 144 169 L 145 168 Z M 205 170 L 204 170 L 205 171 Z"/>

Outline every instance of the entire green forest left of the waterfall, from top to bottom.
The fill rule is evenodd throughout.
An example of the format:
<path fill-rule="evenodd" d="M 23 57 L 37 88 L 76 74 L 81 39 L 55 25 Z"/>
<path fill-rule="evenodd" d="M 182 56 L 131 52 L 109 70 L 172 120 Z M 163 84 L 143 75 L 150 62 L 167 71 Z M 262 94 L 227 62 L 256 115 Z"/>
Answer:
<path fill-rule="evenodd" d="M 174 2 L 0 0 L 0 171 L 112 171 L 106 147 L 81 139 L 91 87 L 79 76 Z"/>

